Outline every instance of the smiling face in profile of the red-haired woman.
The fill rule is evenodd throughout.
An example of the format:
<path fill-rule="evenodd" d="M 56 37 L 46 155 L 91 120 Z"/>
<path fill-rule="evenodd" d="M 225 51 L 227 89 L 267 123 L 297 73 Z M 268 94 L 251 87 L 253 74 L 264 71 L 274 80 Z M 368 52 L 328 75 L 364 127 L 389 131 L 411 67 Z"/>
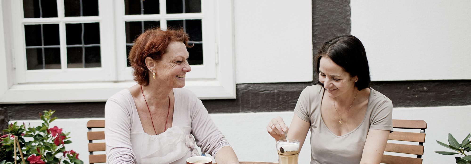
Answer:
<path fill-rule="evenodd" d="M 182 42 L 171 42 L 162 54 L 161 60 L 146 59 L 147 67 L 155 71 L 155 79 L 150 73 L 149 81 L 168 86 L 169 88 L 182 88 L 185 86 L 185 75 L 191 71 L 188 64 L 187 47 Z M 147 62 L 147 60 L 152 60 Z"/>

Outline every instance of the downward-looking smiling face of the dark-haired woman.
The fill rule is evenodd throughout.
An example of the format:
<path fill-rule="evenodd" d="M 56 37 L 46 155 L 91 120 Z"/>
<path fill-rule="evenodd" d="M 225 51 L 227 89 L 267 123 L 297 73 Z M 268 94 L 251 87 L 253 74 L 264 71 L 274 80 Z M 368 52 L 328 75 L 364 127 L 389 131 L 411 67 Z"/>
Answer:
<path fill-rule="evenodd" d="M 327 96 L 338 97 L 351 93 L 355 87 L 357 76 L 350 76 L 348 72 L 335 64 L 330 58 L 322 57 L 319 61 L 319 82 L 324 84 Z"/>

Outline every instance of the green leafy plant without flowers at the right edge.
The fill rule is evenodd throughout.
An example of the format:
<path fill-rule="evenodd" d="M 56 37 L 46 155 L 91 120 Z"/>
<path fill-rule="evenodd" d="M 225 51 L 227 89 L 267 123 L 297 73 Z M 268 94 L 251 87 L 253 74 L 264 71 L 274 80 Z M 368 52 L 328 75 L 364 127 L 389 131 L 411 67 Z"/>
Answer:
<path fill-rule="evenodd" d="M 471 151 L 471 141 L 470 141 L 471 133 L 464 138 L 464 140 L 460 143 L 456 141 L 456 139 L 453 137 L 453 135 L 448 134 L 448 143 L 449 145 L 437 141 L 440 145 L 447 147 L 448 149 L 455 150 L 456 152 L 449 152 L 449 151 L 435 151 L 436 153 L 443 154 L 443 155 L 455 155 L 455 154 L 460 154 L 464 155 L 464 157 L 455 157 L 456 159 L 456 164 L 471 164 L 471 155 L 466 155 L 465 152 Z"/>

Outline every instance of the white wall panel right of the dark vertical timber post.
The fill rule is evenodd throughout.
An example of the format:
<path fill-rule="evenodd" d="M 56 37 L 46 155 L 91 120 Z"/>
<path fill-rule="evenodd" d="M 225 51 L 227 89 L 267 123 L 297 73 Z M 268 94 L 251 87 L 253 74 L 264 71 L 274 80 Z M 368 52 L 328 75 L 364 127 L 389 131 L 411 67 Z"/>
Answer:
<path fill-rule="evenodd" d="M 471 79 L 470 0 L 352 0 L 373 81 Z M 394 70 L 394 71 L 391 71 Z"/>

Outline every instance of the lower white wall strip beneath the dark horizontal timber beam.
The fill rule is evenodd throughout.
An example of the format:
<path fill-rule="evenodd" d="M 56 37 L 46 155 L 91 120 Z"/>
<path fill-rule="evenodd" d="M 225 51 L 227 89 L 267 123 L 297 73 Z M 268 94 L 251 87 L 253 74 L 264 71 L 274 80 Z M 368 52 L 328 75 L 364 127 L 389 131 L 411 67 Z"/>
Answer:
<path fill-rule="evenodd" d="M 434 151 L 448 151 L 435 140 L 447 143 L 447 134 L 451 133 L 459 142 L 471 132 L 469 113 L 471 106 L 442 106 L 424 108 L 394 108 L 393 119 L 422 119 L 428 124 L 424 164 L 448 164 L 453 163 L 454 156 L 444 156 Z M 286 123 L 290 123 L 293 112 L 258 112 L 258 113 L 227 113 L 210 114 L 216 125 L 231 143 L 240 161 L 264 161 L 277 162 L 275 140 L 266 132 L 268 121 L 276 116 L 281 116 Z M 459 119 L 465 117 L 464 120 Z M 80 158 L 88 163 L 87 128 L 89 119 L 57 119 L 52 126 L 64 128 L 71 132 L 73 143 L 67 144 L 67 149 L 74 149 L 80 153 Z M 20 123 L 23 122 L 19 120 Z M 32 125 L 40 125 L 40 120 L 24 121 Z M 307 137 L 309 137 L 308 134 Z M 309 138 L 308 138 L 309 139 Z M 308 164 L 310 161 L 309 142 L 305 142 L 300 153 L 300 164 Z"/>

